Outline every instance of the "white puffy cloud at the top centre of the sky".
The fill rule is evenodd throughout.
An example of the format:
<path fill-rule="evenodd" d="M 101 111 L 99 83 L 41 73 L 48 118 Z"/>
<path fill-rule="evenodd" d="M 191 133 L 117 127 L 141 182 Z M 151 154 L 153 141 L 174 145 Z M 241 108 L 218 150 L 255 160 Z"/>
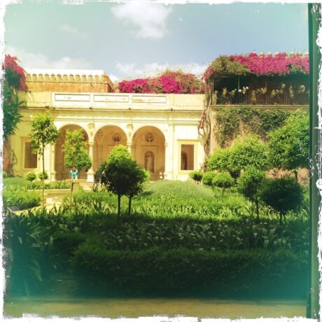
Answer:
<path fill-rule="evenodd" d="M 126 25 L 134 25 L 137 38 L 162 38 L 167 33 L 166 20 L 171 7 L 161 3 L 127 2 L 111 8 L 113 15 Z"/>

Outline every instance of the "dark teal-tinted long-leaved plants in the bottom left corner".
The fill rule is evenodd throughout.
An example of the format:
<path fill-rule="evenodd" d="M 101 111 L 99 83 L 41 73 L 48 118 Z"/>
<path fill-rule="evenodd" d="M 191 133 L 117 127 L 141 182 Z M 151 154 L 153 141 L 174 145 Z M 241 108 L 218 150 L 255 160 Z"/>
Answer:
<path fill-rule="evenodd" d="M 50 267 L 52 228 L 32 221 L 28 216 L 7 214 L 3 244 L 8 250 L 6 262 L 13 293 L 29 295 L 43 289 L 43 278 Z"/>

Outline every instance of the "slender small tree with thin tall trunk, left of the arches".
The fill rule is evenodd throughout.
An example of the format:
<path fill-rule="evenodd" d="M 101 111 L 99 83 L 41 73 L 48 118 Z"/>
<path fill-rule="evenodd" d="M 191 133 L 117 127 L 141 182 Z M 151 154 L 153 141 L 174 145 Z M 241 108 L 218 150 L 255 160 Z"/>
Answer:
<path fill-rule="evenodd" d="M 43 207 L 45 204 L 44 200 L 44 180 L 45 180 L 45 146 L 47 144 L 54 144 L 59 137 L 59 131 L 55 127 L 48 113 L 44 115 L 38 115 L 34 118 L 31 123 L 31 146 L 34 153 L 41 155 L 43 160 L 43 177 L 42 182 L 42 195 L 43 195 Z"/>

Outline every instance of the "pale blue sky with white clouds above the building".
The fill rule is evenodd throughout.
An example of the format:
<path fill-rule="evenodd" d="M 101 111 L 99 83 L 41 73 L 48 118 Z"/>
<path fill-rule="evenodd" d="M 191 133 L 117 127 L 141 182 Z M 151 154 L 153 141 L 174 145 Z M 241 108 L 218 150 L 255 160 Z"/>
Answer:
<path fill-rule="evenodd" d="M 6 6 L 5 52 L 25 68 L 103 69 L 111 80 L 182 69 L 219 55 L 307 52 L 306 3 L 22 1 Z"/>

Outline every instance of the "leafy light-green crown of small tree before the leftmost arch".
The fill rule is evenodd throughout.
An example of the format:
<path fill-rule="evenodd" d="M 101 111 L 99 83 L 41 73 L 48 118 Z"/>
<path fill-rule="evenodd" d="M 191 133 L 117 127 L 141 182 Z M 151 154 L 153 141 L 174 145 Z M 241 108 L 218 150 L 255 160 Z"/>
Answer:
<path fill-rule="evenodd" d="M 82 130 L 66 131 L 66 139 L 62 146 L 64 151 L 64 165 L 71 169 L 72 167 L 80 169 L 90 169 L 92 160 L 87 152 L 87 143 Z"/>

